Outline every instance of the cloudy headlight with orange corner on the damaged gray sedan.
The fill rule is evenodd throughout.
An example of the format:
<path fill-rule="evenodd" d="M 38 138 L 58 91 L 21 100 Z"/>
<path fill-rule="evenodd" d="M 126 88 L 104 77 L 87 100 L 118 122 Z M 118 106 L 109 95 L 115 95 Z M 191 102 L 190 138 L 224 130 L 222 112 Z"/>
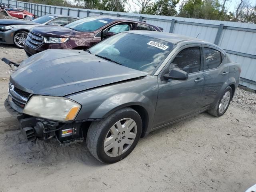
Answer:
<path fill-rule="evenodd" d="M 74 120 L 80 104 L 63 97 L 32 96 L 25 105 L 24 114 L 56 121 Z"/>

